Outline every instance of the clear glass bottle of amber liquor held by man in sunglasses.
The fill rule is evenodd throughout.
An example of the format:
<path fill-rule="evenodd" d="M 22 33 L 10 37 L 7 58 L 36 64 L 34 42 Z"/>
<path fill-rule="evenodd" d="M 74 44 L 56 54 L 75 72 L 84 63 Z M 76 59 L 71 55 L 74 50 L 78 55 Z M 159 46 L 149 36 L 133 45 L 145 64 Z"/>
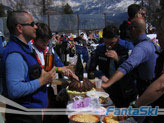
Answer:
<path fill-rule="evenodd" d="M 54 54 L 52 53 L 53 44 L 52 41 L 49 43 L 49 49 L 45 56 L 45 71 L 50 71 L 53 68 Z"/>

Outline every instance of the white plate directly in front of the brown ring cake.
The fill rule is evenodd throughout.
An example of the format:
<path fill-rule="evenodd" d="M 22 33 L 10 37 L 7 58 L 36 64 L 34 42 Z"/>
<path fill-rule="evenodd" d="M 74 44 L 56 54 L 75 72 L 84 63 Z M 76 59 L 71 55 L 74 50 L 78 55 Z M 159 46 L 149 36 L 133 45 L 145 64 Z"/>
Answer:
<path fill-rule="evenodd" d="M 101 92 L 101 91 L 90 91 L 90 92 L 87 92 L 86 95 L 89 97 L 104 97 L 104 98 L 109 97 L 108 93 Z"/>

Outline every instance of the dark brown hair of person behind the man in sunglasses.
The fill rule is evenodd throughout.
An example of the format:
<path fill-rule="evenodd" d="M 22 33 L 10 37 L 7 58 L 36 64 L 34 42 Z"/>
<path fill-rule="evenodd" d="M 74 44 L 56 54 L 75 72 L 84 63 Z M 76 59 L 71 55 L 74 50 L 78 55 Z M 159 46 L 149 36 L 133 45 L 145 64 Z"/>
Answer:
<path fill-rule="evenodd" d="M 36 29 L 36 40 L 38 38 L 40 39 L 51 39 L 52 38 L 52 32 L 49 26 L 45 23 L 37 23 L 37 29 Z M 44 41 L 44 40 L 43 40 Z"/>

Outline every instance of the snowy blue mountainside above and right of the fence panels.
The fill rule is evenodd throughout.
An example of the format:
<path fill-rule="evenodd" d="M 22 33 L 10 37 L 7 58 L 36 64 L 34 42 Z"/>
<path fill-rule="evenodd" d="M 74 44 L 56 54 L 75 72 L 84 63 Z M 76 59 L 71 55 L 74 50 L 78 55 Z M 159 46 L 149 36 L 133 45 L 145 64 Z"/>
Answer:
<path fill-rule="evenodd" d="M 137 2 L 136 2 L 137 1 Z M 74 13 L 78 14 L 103 14 L 112 21 L 121 22 L 128 18 L 127 7 L 141 0 L 67 0 Z M 61 6 L 63 0 L 55 0 L 56 6 Z M 107 22 L 108 23 L 108 22 Z"/>

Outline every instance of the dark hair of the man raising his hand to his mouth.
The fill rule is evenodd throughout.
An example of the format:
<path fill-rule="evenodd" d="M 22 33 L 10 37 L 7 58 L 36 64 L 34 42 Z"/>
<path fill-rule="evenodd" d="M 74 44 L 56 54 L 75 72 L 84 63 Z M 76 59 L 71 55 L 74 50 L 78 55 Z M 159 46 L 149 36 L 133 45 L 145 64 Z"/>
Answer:
<path fill-rule="evenodd" d="M 103 38 L 114 38 L 119 36 L 119 30 L 113 25 L 109 25 L 103 29 Z"/>

